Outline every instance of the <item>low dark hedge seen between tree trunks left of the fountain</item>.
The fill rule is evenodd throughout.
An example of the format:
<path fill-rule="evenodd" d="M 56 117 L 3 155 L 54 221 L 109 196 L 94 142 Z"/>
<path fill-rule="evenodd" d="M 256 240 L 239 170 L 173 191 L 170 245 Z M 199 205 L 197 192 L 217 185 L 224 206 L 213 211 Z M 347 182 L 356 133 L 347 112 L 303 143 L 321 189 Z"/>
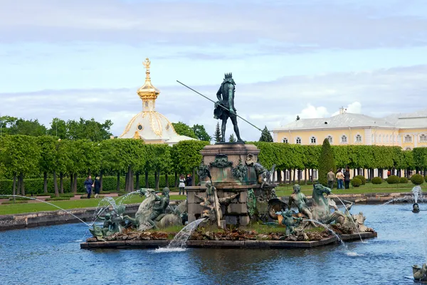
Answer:
<path fill-rule="evenodd" d="M 77 179 L 77 191 L 85 192 L 84 182 L 85 177 L 80 177 Z M 174 186 L 175 175 L 169 175 L 169 186 Z M 196 175 L 195 185 L 199 182 L 199 177 Z M 25 179 L 23 180 L 25 192 L 26 194 L 33 195 L 43 195 L 43 178 L 33 178 L 33 179 Z M 148 176 L 148 184 L 149 188 L 154 188 L 154 175 Z M 12 195 L 14 181 L 13 180 L 0 180 L 0 194 L 4 195 Z M 136 176 L 134 175 L 134 185 L 136 184 Z M 58 178 L 58 187 L 59 187 L 59 178 Z M 70 192 L 70 178 L 63 178 L 63 187 L 64 193 Z M 117 176 L 105 176 L 102 177 L 102 192 L 104 191 L 114 191 L 117 187 Z M 139 187 L 145 187 L 145 176 L 139 175 Z M 166 179 L 164 175 L 160 175 L 159 177 L 159 187 L 160 189 L 166 187 Z M 120 189 L 125 189 L 125 176 L 120 177 Z M 53 188 L 53 178 L 48 178 L 48 194 L 46 196 L 50 196 L 54 193 L 55 190 Z"/>

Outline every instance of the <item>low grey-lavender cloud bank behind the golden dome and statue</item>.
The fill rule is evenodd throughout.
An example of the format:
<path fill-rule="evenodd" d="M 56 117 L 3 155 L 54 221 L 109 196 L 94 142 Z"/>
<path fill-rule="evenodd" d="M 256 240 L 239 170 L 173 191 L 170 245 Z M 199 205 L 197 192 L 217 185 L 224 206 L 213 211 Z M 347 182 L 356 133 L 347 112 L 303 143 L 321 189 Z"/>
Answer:
<path fill-rule="evenodd" d="M 218 85 L 192 86 L 211 98 Z M 214 103 L 182 86 L 157 86 L 157 111 L 172 122 L 205 125 L 212 135 L 217 120 Z M 142 110 L 133 88 L 90 90 L 42 90 L 30 93 L 0 93 L 2 115 L 38 119 L 48 125 L 52 118 L 80 117 L 103 121 L 110 119 L 112 133 L 120 135 L 127 122 Z M 238 115 L 258 128 L 277 128 L 301 118 L 321 118 L 342 106 L 347 112 L 383 117 L 391 113 L 411 113 L 422 108 L 427 93 L 427 66 L 380 69 L 359 73 L 329 73 L 319 76 L 286 76 L 277 81 L 238 84 Z M 268 95 L 265 95 L 268 94 Z M 403 99 L 404 98 L 404 99 Z M 241 136 L 258 140 L 260 132 L 238 119 Z M 233 132 L 228 122 L 227 135 Z"/>

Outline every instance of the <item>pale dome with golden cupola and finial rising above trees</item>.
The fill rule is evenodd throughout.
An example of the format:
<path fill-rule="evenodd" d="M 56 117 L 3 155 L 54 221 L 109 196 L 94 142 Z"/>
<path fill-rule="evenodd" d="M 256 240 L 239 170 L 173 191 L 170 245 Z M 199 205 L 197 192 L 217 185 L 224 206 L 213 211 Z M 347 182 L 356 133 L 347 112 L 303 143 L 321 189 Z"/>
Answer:
<path fill-rule="evenodd" d="M 146 143 L 167 143 L 168 145 L 174 145 L 180 140 L 194 140 L 185 135 L 178 135 L 172 123 L 156 111 L 156 99 L 160 90 L 151 83 L 150 63 L 149 59 L 146 58 L 143 63 L 147 69 L 145 71 L 145 83 L 137 90 L 137 94 L 142 100 L 142 112 L 135 115 L 127 123 L 125 131 L 119 138 L 135 138 L 144 140 Z"/>

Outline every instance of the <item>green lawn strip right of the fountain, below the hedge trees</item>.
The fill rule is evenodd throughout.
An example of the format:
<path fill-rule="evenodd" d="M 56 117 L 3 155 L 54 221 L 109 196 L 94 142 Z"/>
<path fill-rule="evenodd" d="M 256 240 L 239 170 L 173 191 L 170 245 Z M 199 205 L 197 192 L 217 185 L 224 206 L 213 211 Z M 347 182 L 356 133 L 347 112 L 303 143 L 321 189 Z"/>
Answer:
<path fill-rule="evenodd" d="M 305 195 L 312 195 L 312 185 L 300 185 L 301 192 Z M 336 186 L 336 184 L 335 184 Z M 367 182 L 366 185 L 361 185 L 359 187 L 352 187 L 350 185 L 350 189 L 347 190 L 337 190 L 336 188 L 332 189 L 332 193 L 334 194 L 364 194 L 364 193 L 397 193 L 397 192 L 411 192 L 412 187 L 414 185 L 412 183 L 404 183 L 404 184 L 389 184 L 387 182 L 383 182 L 382 184 L 371 184 Z M 282 185 L 275 188 L 276 195 L 278 197 L 289 196 L 292 194 L 292 185 Z"/>

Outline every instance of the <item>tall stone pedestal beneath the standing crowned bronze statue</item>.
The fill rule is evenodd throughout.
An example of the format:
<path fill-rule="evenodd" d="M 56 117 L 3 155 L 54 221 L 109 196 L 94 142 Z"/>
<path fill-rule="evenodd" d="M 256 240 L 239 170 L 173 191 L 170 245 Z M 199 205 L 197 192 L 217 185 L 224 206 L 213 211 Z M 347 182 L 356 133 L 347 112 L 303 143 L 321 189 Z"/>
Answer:
<path fill-rule="evenodd" d="M 201 150 L 204 167 L 209 168 L 212 182 L 216 187 L 218 199 L 231 197 L 238 193 L 238 196 L 229 202 L 221 204 L 221 227 L 225 224 L 245 227 L 251 222 L 248 214 L 248 191 L 253 190 L 256 198 L 261 204 L 268 201 L 269 191 L 275 185 L 261 188 L 258 184 L 258 176 L 252 163 L 258 160 L 258 150 L 255 145 L 243 143 L 222 143 L 217 145 L 207 145 Z M 245 175 L 236 177 L 233 175 L 233 168 L 240 165 L 247 168 Z M 188 192 L 188 218 L 189 222 L 194 222 L 202 217 L 204 207 L 201 206 L 201 199 L 196 197 L 206 197 L 206 181 L 208 177 L 201 180 L 201 186 L 186 187 Z M 256 207 L 258 215 L 265 217 L 268 215 L 268 207 Z M 216 222 L 215 222 L 216 224 Z"/>

